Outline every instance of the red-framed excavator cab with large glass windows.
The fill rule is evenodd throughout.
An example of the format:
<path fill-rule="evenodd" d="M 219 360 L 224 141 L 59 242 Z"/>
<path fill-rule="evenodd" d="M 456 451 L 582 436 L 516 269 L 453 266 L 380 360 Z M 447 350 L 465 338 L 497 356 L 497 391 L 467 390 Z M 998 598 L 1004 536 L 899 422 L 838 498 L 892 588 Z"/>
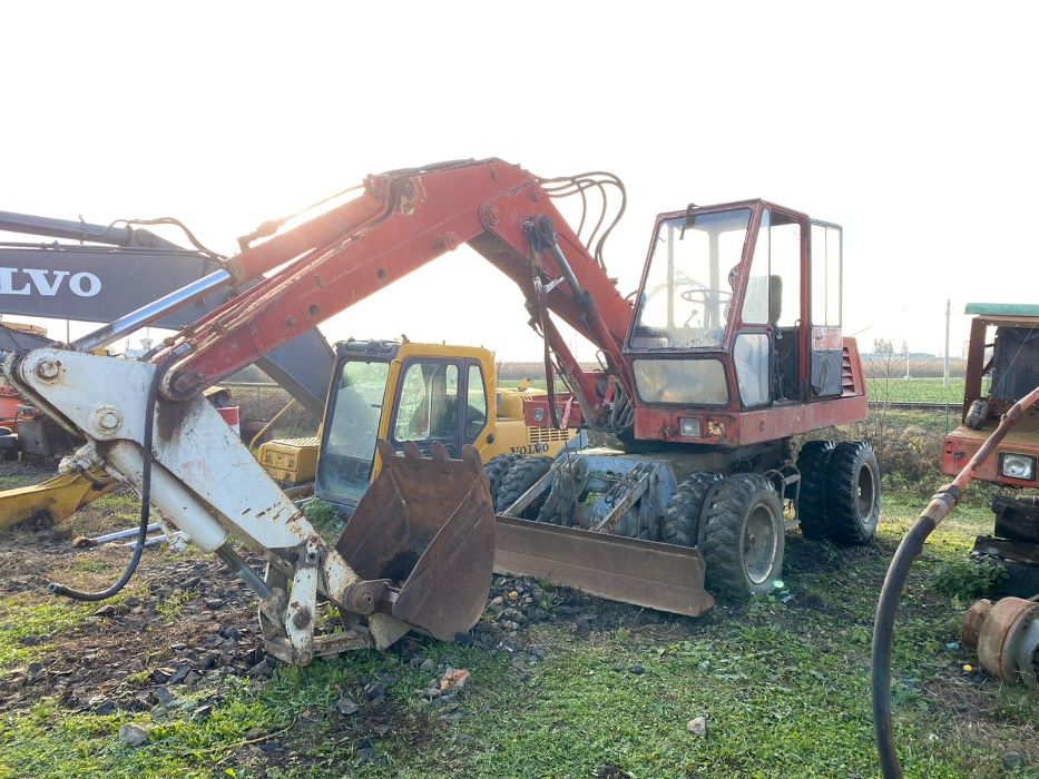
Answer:
<path fill-rule="evenodd" d="M 762 200 L 658 217 L 626 348 L 647 404 L 640 437 L 751 443 L 721 420 L 657 406 L 837 397 L 842 346 L 840 227 Z"/>

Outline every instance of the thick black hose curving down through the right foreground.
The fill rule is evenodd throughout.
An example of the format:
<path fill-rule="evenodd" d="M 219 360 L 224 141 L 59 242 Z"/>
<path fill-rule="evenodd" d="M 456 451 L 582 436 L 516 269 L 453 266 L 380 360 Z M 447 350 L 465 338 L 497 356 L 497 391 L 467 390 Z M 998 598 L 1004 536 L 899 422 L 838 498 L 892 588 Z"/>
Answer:
<path fill-rule="evenodd" d="M 963 491 L 977 475 L 981 464 L 992 455 L 1021 414 L 1037 402 L 1039 402 L 1039 387 L 1032 389 L 1010 407 L 1010 411 L 1000 420 L 999 426 L 993 431 L 992 435 L 986 438 L 974 456 L 967 463 L 967 466 L 960 471 L 960 474 L 952 480 L 951 484 L 943 486 L 931 499 L 923 514 L 920 515 L 920 519 L 913 523 L 913 526 L 902 539 L 898 550 L 895 550 L 894 558 L 891 560 L 888 575 L 884 576 L 880 600 L 876 603 L 876 619 L 873 622 L 873 657 L 871 661 L 873 734 L 876 739 L 876 751 L 884 779 L 901 779 L 902 777 L 902 766 L 895 752 L 894 729 L 891 722 L 891 645 L 894 639 L 894 619 L 899 609 L 902 588 L 905 585 L 905 579 L 909 575 L 909 569 L 923 551 L 923 544 L 928 536 L 960 502 Z"/>

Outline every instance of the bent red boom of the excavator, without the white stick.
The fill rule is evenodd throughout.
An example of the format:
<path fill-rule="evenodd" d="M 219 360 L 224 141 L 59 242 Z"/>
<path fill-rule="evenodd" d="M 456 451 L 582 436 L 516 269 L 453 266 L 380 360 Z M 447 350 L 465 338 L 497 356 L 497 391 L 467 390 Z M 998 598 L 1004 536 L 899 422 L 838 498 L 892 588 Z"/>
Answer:
<path fill-rule="evenodd" d="M 222 285 L 238 286 L 271 274 L 171 342 L 185 345 L 187 353 L 167 373 L 163 394 L 183 401 L 461 244 L 469 244 L 520 287 L 532 324 L 543 331 L 586 420 L 604 417 L 611 392 L 634 400 L 620 356 L 630 304 L 539 179 L 499 159 L 370 176 L 360 196 L 246 248 L 179 297 L 134 312 L 77 346 L 96 348 Z M 464 290 L 464 279 L 459 279 L 459 288 Z M 605 375 L 581 369 L 545 315 L 549 310 L 598 347 Z M 616 382 L 605 381 L 607 376 Z"/>

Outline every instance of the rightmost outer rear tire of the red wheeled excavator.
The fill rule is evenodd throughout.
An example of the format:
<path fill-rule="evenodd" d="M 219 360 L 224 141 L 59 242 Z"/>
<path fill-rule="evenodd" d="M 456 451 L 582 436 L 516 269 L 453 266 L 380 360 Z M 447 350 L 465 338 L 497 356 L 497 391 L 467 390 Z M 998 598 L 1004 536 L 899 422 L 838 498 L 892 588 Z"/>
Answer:
<path fill-rule="evenodd" d="M 859 482 L 863 469 L 870 470 L 873 495 L 869 511 L 859 500 Z M 826 532 L 834 543 L 860 545 L 869 543 L 880 522 L 880 465 L 873 447 L 864 441 L 837 444 L 826 467 L 826 509 L 830 521 Z"/>

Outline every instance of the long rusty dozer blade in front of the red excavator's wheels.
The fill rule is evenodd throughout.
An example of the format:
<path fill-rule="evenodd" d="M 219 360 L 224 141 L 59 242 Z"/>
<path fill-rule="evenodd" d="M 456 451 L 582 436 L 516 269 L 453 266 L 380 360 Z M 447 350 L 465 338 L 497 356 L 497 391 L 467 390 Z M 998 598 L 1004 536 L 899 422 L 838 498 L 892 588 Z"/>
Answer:
<path fill-rule="evenodd" d="M 494 571 L 698 617 L 714 605 L 698 549 L 499 516 Z"/>

